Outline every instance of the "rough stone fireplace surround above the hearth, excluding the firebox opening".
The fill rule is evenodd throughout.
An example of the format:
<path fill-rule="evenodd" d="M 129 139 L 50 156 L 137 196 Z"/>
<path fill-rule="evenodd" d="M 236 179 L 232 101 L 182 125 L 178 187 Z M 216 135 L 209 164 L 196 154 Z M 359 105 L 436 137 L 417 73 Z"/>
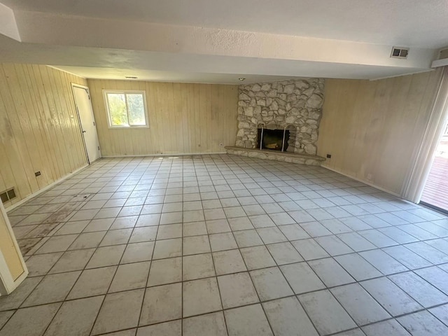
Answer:
<path fill-rule="evenodd" d="M 240 85 L 236 146 L 258 148 L 258 129 L 289 130 L 288 152 L 316 155 L 323 78 Z"/>

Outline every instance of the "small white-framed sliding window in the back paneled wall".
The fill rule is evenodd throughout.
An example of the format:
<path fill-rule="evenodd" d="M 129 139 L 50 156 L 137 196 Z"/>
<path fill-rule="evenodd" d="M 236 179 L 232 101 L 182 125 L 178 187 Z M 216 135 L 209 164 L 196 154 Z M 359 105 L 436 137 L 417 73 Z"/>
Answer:
<path fill-rule="evenodd" d="M 109 128 L 149 127 L 146 92 L 103 90 Z"/>

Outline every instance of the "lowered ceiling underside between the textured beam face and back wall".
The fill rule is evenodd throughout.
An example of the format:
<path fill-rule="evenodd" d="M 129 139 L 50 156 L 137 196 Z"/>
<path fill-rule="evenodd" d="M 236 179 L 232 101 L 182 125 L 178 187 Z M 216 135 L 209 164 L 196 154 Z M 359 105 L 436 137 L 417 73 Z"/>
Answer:
<path fill-rule="evenodd" d="M 0 36 L 1 62 L 50 64 L 85 78 L 182 81 L 190 83 L 244 83 L 293 77 L 376 79 L 426 68 L 370 66 L 305 62 L 289 59 L 261 59 L 167 52 L 144 52 L 107 48 L 19 43 Z"/>

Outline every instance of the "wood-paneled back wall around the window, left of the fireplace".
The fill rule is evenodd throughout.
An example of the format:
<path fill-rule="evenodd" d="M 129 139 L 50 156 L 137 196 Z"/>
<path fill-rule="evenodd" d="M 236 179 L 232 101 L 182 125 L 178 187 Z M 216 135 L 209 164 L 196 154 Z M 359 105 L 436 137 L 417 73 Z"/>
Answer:
<path fill-rule="evenodd" d="M 217 153 L 235 145 L 237 85 L 87 82 L 103 156 Z M 145 90 L 149 128 L 109 129 L 102 90 Z"/>

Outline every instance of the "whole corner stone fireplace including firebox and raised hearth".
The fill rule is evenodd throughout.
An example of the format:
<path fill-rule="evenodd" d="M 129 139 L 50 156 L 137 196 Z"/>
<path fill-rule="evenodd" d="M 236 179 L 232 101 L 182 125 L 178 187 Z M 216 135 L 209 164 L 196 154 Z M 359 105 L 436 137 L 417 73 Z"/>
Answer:
<path fill-rule="evenodd" d="M 239 86 L 238 133 L 231 154 L 320 165 L 323 78 Z"/>

